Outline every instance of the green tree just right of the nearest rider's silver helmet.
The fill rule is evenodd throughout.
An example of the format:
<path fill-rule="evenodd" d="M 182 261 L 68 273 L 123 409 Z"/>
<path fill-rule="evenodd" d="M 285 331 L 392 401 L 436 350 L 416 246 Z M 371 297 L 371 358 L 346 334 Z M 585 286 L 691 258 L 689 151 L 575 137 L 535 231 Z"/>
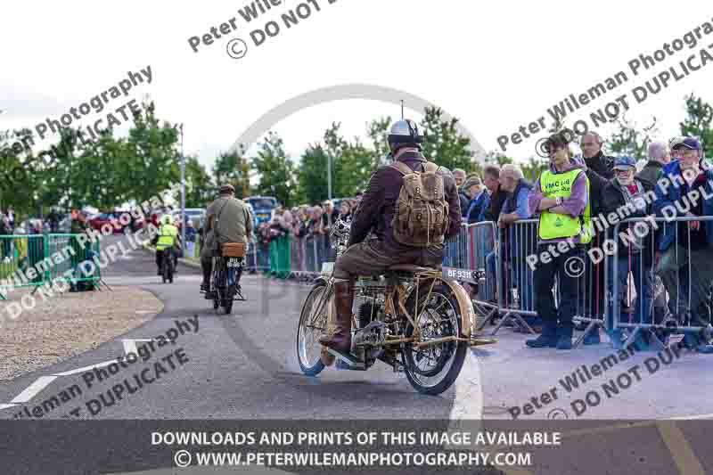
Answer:
<path fill-rule="evenodd" d="M 470 150 L 471 139 L 460 135 L 458 119 L 443 120 L 443 111 L 427 107 L 421 121 L 423 155 L 448 169 L 463 168 L 466 173 L 476 171 L 477 164 Z"/>

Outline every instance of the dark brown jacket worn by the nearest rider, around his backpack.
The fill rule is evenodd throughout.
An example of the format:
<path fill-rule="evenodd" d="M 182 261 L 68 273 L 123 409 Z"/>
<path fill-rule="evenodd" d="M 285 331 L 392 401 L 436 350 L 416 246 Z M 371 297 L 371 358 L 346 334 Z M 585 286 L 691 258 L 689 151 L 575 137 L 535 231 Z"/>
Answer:
<path fill-rule="evenodd" d="M 420 152 L 404 152 L 398 157 L 398 160 L 406 163 L 412 170 L 418 171 L 423 169 L 423 164 L 427 161 Z M 440 167 L 438 174 L 443 176 L 446 201 L 448 202 L 450 223 L 446 237 L 449 238 L 455 236 L 460 229 L 461 201 L 455 186 L 455 178 L 450 170 Z M 401 191 L 402 184 L 404 184 L 403 175 L 389 165 L 374 172 L 351 223 L 349 245 L 364 241 L 369 231 L 373 229 L 376 237 L 380 241 L 386 242 L 389 247 L 395 249 L 403 247 L 394 240 L 391 229 L 391 220 L 394 217 L 398 193 Z"/>

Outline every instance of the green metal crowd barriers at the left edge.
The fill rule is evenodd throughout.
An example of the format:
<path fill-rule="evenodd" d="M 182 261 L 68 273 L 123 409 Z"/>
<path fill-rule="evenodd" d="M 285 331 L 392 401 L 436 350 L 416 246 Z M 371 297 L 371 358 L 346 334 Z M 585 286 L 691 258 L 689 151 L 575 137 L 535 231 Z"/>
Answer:
<path fill-rule="evenodd" d="M 82 243 L 79 234 L 0 235 L 0 300 L 7 299 L 9 288 L 41 287 L 45 283 L 89 283 L 98 288 L 101 266 L 91 275 L 80 269 L 83 262 L 100 253 L 100 242 Z M 73 272 L 68 275 L 68 271 Z M 33 291 L 33 293 L 35 292 Z"/>

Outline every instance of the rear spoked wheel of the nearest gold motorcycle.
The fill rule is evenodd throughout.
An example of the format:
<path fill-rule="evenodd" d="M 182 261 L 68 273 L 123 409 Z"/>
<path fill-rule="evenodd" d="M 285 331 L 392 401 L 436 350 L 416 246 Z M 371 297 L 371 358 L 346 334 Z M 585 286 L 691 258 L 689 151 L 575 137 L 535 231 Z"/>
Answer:
<path fill-rule="evenodd" d="M 418 289 L 418 312 L 414 322 L 418 325 L 423 341 L 463 337 L 461 312 L 455 295 L 444 283 L 436 283 L 430 292 L 430 283 Z M 415 313 L 415 291 L 408 299 L 406 308 Z M 414 335 L 411 323 L 406 326 L 406 338 Z M 418 392 L 437 395 L 450 388 L 461 373 L 468 350 L 466 341 L 444 341 L 428 346 L 404 345 L 406 379 Z"/>

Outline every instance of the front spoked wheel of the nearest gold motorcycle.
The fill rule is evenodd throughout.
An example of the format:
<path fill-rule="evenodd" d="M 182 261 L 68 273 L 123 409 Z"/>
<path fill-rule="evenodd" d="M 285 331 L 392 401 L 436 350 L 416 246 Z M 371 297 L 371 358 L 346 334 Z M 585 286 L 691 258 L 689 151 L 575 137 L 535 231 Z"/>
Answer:
<path fill-rule="evenodd" d="M 324 370 L 319 337 L 327 328 L 327 309 L 330 303 L 324 301 L 328 297 L 325 295 L 326 290 L 326 283 L 316 283 L 307 295 L 302 313 L 299 315 L 297 361 L 302 373 L 307 376 L 316 376 Z"/>

